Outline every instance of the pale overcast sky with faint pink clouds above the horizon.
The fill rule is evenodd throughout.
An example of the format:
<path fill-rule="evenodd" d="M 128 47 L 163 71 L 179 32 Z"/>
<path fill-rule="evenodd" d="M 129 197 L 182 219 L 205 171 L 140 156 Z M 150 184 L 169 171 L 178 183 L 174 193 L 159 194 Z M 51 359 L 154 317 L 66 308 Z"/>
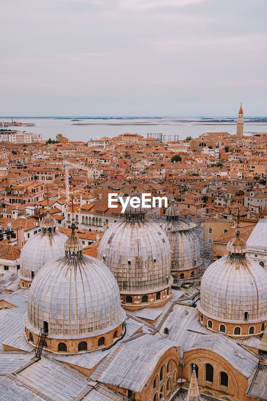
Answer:
<path fill-rule="evenodd" d="M 267 116 L 266 0 L 2 0 L 0 115 Z"/>

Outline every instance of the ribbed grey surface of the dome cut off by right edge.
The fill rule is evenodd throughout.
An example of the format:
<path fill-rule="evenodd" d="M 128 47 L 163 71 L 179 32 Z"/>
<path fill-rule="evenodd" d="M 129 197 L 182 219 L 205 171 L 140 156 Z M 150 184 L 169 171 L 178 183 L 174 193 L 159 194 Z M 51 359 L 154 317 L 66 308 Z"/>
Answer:
<path fill-rule="evenodd" d="M 224 256 L 205 271 L 198 310 L 220 321 L 244 323 L 267 319 L 267 273 L 249 257 Z"/>

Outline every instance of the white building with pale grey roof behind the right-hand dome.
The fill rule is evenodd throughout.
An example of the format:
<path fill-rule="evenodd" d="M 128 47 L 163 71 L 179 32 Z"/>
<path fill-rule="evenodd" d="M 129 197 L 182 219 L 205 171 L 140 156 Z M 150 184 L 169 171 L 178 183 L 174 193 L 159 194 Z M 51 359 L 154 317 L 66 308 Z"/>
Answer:
<path fill-rule="evenodd" d="M 267 219 L 261 219 L 247 240 L 247 255 L 267 271 Z"/>

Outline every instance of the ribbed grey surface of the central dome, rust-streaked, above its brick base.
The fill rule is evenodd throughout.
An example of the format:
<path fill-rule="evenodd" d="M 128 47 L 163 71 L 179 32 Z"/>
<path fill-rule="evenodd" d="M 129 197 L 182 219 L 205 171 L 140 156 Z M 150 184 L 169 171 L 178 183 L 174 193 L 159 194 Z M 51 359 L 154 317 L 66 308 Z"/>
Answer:
<path fill-rule="evenodd" d="M 97 255 L 114 274 L 121 294 L 170 286 L 170 256 L 168 238 L 147 219 L 114 223 L 103 235 Z"/>

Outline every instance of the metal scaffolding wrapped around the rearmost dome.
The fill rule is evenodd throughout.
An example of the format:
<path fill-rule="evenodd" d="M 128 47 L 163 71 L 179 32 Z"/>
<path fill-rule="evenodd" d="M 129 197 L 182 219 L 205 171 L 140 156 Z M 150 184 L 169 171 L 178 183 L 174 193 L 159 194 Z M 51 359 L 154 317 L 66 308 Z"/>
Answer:
<path fill-rule="evenodd" d="M 174 277 L 173 286 L 177 288 L 186 282 L 200 281 L 204 271 L 212 263 L 212 234 L 209 234 L 208 231 L 205 230 L 205 216 L 179 216 L 177 225 L 172 224 L 172 221 L 166 221 L 165 217 L 153 218 L 153 220 L 160 226 L 166 225 L 168 227 L 168 225 L 170 225 L 172 227 L 169 241 L 171 248 L 175 249 L 175 251 L 172 251 L 171 264 L 171 274 Z M 190 232 L 190 238 L 192 239 L 193 247 L 191 244 L 192 254 L 190 256 L 196 255 L 190 277 L 185 277 L 184 273 L 181 273 L 181 267 L 179 267 L 179 265 L 181 266 L 181 264 L 184 264 L 186 269 L 186 263 L 190 258 L 188 253 L 183 252 L 182 260 L 181 255 L 179 260 L 180 231 L 183 231 L 183 225 L 184 229 Z M 181 249 L 184 249 L 184 245 Z"/>

